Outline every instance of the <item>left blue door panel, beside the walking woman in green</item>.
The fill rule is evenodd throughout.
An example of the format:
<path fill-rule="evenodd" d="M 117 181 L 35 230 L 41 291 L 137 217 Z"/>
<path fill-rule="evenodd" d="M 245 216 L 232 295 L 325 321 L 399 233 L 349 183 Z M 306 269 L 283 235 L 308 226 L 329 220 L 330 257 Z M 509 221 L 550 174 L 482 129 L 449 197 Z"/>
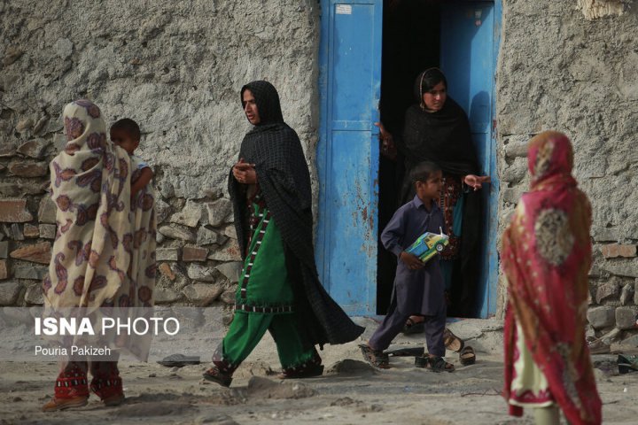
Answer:
<path fill-rule="evenodd" d="M 322 2 L 316 263 L 351 315 L 376 313 L 382 0 Z"/>

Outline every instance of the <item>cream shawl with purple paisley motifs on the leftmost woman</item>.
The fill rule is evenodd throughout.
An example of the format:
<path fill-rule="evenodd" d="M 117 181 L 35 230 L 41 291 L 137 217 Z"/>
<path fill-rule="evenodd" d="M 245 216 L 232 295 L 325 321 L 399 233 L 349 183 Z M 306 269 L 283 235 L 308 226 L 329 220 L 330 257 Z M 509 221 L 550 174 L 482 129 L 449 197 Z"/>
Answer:
<path fill-rule="evenodd" d="M 130 263 L 130 160 L 106 138 L 96 104 L 77 100 L 64 110 L 66 148 L 51 161 L 51 198 L 58 232 L 46 305 L 53 309 L 113 305 Z"/>

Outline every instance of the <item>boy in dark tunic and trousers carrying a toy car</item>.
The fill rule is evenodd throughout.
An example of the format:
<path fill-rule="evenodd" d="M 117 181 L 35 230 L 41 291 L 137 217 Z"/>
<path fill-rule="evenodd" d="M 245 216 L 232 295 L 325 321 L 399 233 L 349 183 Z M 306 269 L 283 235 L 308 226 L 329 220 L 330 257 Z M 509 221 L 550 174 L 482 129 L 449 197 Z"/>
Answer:
<path fill-rule="evenodd" d="M 442 177 L 440 166 L 433 162 L 424 161 L 416 166 L 411 174 L 416 196 L 394 213 L 381 234 L 385 249 L 393 252 L 399 262 L 390 310 L 368 344 L 360 345 L 363 357 L 373 367 L 389 367 L 387 354 L 383 351 L 399 335 L 408 317 L 420 314 L 425 316 L 426 367 L 436 372 L 454 370 L 454 365 L 443 359 L 446 303 L 439 256 L 423 263 L 405 251 L 425 232 L 439 233 L 445 226 L 443 213 L 437 205 L 443 187 Z"/>

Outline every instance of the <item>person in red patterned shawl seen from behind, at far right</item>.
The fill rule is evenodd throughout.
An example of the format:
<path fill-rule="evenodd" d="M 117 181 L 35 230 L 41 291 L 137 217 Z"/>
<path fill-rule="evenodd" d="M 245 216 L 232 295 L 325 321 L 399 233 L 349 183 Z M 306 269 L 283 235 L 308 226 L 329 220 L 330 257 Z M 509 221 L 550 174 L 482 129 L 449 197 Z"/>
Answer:
<path fill-rule="evenodd" d="M 572 177 L 569 139 L 536 135 L 528 153 L 531 191 L 502 238 L 509 304 L 505 388 L 510 413 L 536 407 L 537 423 L 601 423 L 601 400 L 585 342 L 591 208 Z"/>

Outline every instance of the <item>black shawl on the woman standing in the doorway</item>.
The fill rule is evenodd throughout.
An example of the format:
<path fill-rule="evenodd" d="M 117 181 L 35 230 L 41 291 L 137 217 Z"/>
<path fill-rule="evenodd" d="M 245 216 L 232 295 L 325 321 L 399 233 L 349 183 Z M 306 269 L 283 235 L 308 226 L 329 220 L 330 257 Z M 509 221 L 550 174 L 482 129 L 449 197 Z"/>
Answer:
<path fill-rule="evenodd" d="M 461 178 L 467 174 L 479 174 L 470 122 L 463 108 L 448 96 L 440 111 L 427 112 L 423 109 L 421 84 L 424 73 L 416 77 L 416 104 L 406 111 L 403 135 L 397 141 L 397 147 L 405 158 L 401 204 L 414 197 L 410 172 L 422 161 L 435 162 L 447 177 Z M 482 205 L 480 191 L 470 190 L 464 193 L 461 248 L 452 278 L 452 305 L 448 309 L 450 315 L 467 317 L 475 313 L 477 276 L 480 271 Z"/>

